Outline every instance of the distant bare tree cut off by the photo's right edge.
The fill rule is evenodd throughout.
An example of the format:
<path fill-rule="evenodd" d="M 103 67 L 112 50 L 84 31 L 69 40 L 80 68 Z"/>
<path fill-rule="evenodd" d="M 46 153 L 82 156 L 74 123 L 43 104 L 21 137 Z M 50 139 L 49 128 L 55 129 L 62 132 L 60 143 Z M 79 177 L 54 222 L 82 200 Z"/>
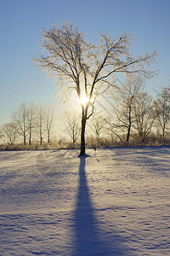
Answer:
<path fill-rule="evenodd" d="M 156 120 L 161 126 L 161 137 L 164 140 L 165 131 L 170 121 L 170 88 L 163 88 L 161 93 L 157 94 L 154 107 L 156 111 Z"/>

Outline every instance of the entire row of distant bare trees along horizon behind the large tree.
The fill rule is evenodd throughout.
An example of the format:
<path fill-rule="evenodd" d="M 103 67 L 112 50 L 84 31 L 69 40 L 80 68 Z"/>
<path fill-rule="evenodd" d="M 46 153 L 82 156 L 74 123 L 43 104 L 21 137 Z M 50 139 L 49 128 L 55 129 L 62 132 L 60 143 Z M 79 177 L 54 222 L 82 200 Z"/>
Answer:
<path fill-rule="evenodd" d="M 99 103 L 99 104 L 98 104 Z M 98 106 L 99 105 L 99 106 Z M 125 84 L 95 102 L 94 115 L 88 120 L 87 146 L 160 144 L 170 142 L 170 88 L 162 88 L 156 99 L 144 91 L 144 80 Z M 65 112 L 63 131 L 56 131 L 54 107 L 21 103 L 12 121 L 1 127 L 8 144 L 51 145 L 75 148 L 80 143 L 81 119 L 77 112 Z M 63 138 L 54 140 L 56 133 Z"/>

